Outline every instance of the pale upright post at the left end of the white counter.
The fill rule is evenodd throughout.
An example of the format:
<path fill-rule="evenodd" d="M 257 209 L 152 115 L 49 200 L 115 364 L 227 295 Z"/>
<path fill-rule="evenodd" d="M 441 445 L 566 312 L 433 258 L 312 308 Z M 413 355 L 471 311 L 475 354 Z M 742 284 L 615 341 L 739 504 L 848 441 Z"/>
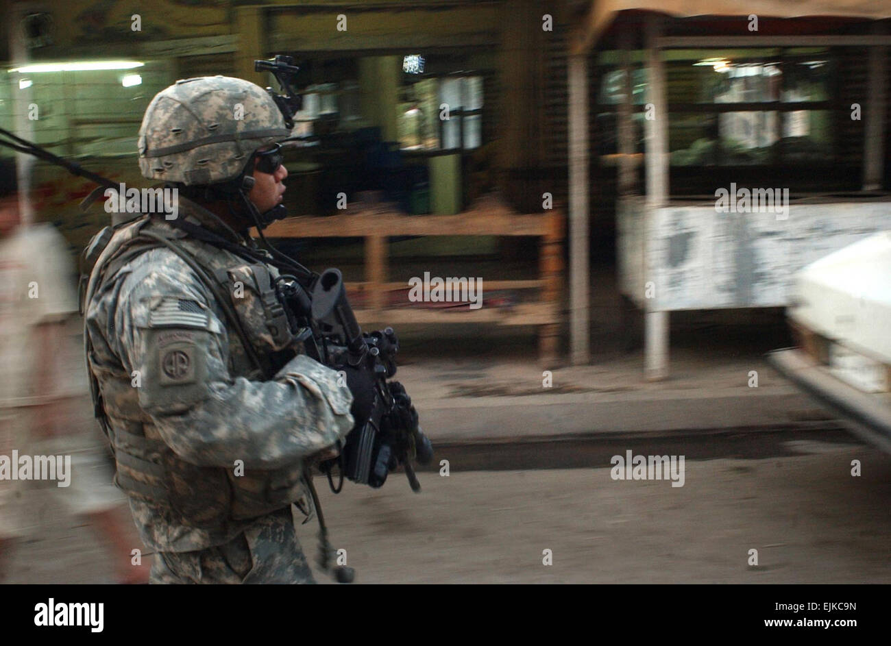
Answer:
<path fill-rule="evenodd" d="M 653 282 L 653 298 L 645 298 L 644 355 L 648 380 L 668 376 L 668 312 L 658 309 L 660 297 L 656 277 L 660 258 L 657 256 L 657 209 L 668 201 L 668 102 L 666 100 L 665 68 L 662 53 L 656 46 L 660 25 L 655 16 L 647 20 L 647 80 L 648 105 L 646 124 L 647 200 L 645 209 L 644 242 L 646 274 L 644 285 Z M 651 112 L 650 112 L 651 110 Z M 651 119 L 650 119 L 651 117 Z M 645 296 L 650 296 L 646 294 Z"/>

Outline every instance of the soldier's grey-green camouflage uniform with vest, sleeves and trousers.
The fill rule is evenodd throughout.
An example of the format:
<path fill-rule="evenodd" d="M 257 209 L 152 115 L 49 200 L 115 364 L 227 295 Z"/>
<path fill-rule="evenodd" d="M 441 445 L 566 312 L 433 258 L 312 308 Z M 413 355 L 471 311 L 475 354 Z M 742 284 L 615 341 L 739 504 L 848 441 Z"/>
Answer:
<path fill-rule="evenodd" d="M 179 89 L 168 88 L 168 99 Z M 163 103 L 162 94 L 152 105 Z M 148 120 L 149 112 L 141 165 L 149 159 Z M 251 119 L 235 127 L 263 131 Z M 226 154 L 249 156 L 250 145 L 230 143 Z M 229 163 L 217 153 L 215 163 Z M 163 175 L 159 168 L 176 170 L 159 164 L 151 172 Z M 244 244 L 189 201 L 180 200 L 179 217 Z M 187 251 L 203 277 L 147 234 Z M 270 330 L 275 275 L 274 267 L 148 216 L 117 227 L 96 261 L 86 297 L 87 362 L 115 450 L 116 483 L 130 497 L 144 544 L 157 554 L 154 583 L 312 582 L 291 503 L 311 507 L 305 460 L 346 436 L 353 397 L 338 385 L 337 372 L 298 354 L 290 332 Z M 208 276 L 228 303 L 215 297 Z M 225 307 L 237 314 L 259 367 Z M 273 366 L 283 367 L 270 377 Z"/>

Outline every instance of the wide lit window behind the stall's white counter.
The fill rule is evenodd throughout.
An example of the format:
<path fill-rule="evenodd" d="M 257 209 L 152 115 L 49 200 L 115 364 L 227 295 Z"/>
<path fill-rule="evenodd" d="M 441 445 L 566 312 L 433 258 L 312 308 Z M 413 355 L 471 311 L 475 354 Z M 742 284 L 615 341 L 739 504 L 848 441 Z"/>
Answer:
<path fill-rule="evenodd" d="M 614 67 L 616 55 L 607 58 L 612 65 L 601 70 L 597 119 L 604 127 L 617 128 L 616 106 L 625 100 L 625 77 Z M 837 65 L 827 50 L 669 50 L 666 58 L 672 166 L 831 161 L 831 108 L 836 106 L 830 97 Z M 637 151 L 643 151 L 646 85 L 645 70 L 636 62 Z M 601 154 L 616 151 L 615 136 L 610 150 Z"/>

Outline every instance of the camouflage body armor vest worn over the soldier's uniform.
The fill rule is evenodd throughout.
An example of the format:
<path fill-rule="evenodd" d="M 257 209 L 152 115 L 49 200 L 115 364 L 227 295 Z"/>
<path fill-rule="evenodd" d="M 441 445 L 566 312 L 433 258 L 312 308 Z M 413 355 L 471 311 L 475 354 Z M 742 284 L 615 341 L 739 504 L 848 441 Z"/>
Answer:
<path fill-rule="evenodd" d="M 86 249 L 95 258 L 95 266 L 86 291 L 82 290 L 84 311 L 97 293 L 121 279 L 119 274 L 127 263 L 150 249 L 166 247 L 187 261 L 214 295 L 217 316 L 228 331 L 233 376 L 268 379 L 274 372 L 276 353 L 297 354 L 287 317 L 275 295 L 274 268 L 250 264 L 182 231 L 159 225 L 151 217 L 124 225 L 111 235 L 109 232 L 106 228 L 98 233 Z M 90 260 L 87 258 L 87 264 Z M 239 286 L 249 298 L 233 298 L 233 289 Z M 304 504 L 299 506 L 306 512 L 302 464 L 236 475 L 233 468 L 200 467 L 179 458 L 140 407 L 123 364 L 99 364 L 94 339 L 86 329 L 84 338 L 95 414 L 115 455 L 115 483 L 127 495 L 159 508 L 187 527 L 220 527 L 229 520 L 263 516 L 301 501 Z"/>

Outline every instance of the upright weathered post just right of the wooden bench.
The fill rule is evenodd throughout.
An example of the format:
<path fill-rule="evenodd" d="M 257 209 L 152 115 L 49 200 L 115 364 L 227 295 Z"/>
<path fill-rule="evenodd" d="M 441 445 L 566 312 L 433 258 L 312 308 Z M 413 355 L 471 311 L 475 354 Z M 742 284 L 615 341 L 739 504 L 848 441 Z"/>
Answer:
<path fill-rule="evenodd" d="M 588 61 L 569 56 L 569 358 L 587 364 L 588 310 Z"/>

